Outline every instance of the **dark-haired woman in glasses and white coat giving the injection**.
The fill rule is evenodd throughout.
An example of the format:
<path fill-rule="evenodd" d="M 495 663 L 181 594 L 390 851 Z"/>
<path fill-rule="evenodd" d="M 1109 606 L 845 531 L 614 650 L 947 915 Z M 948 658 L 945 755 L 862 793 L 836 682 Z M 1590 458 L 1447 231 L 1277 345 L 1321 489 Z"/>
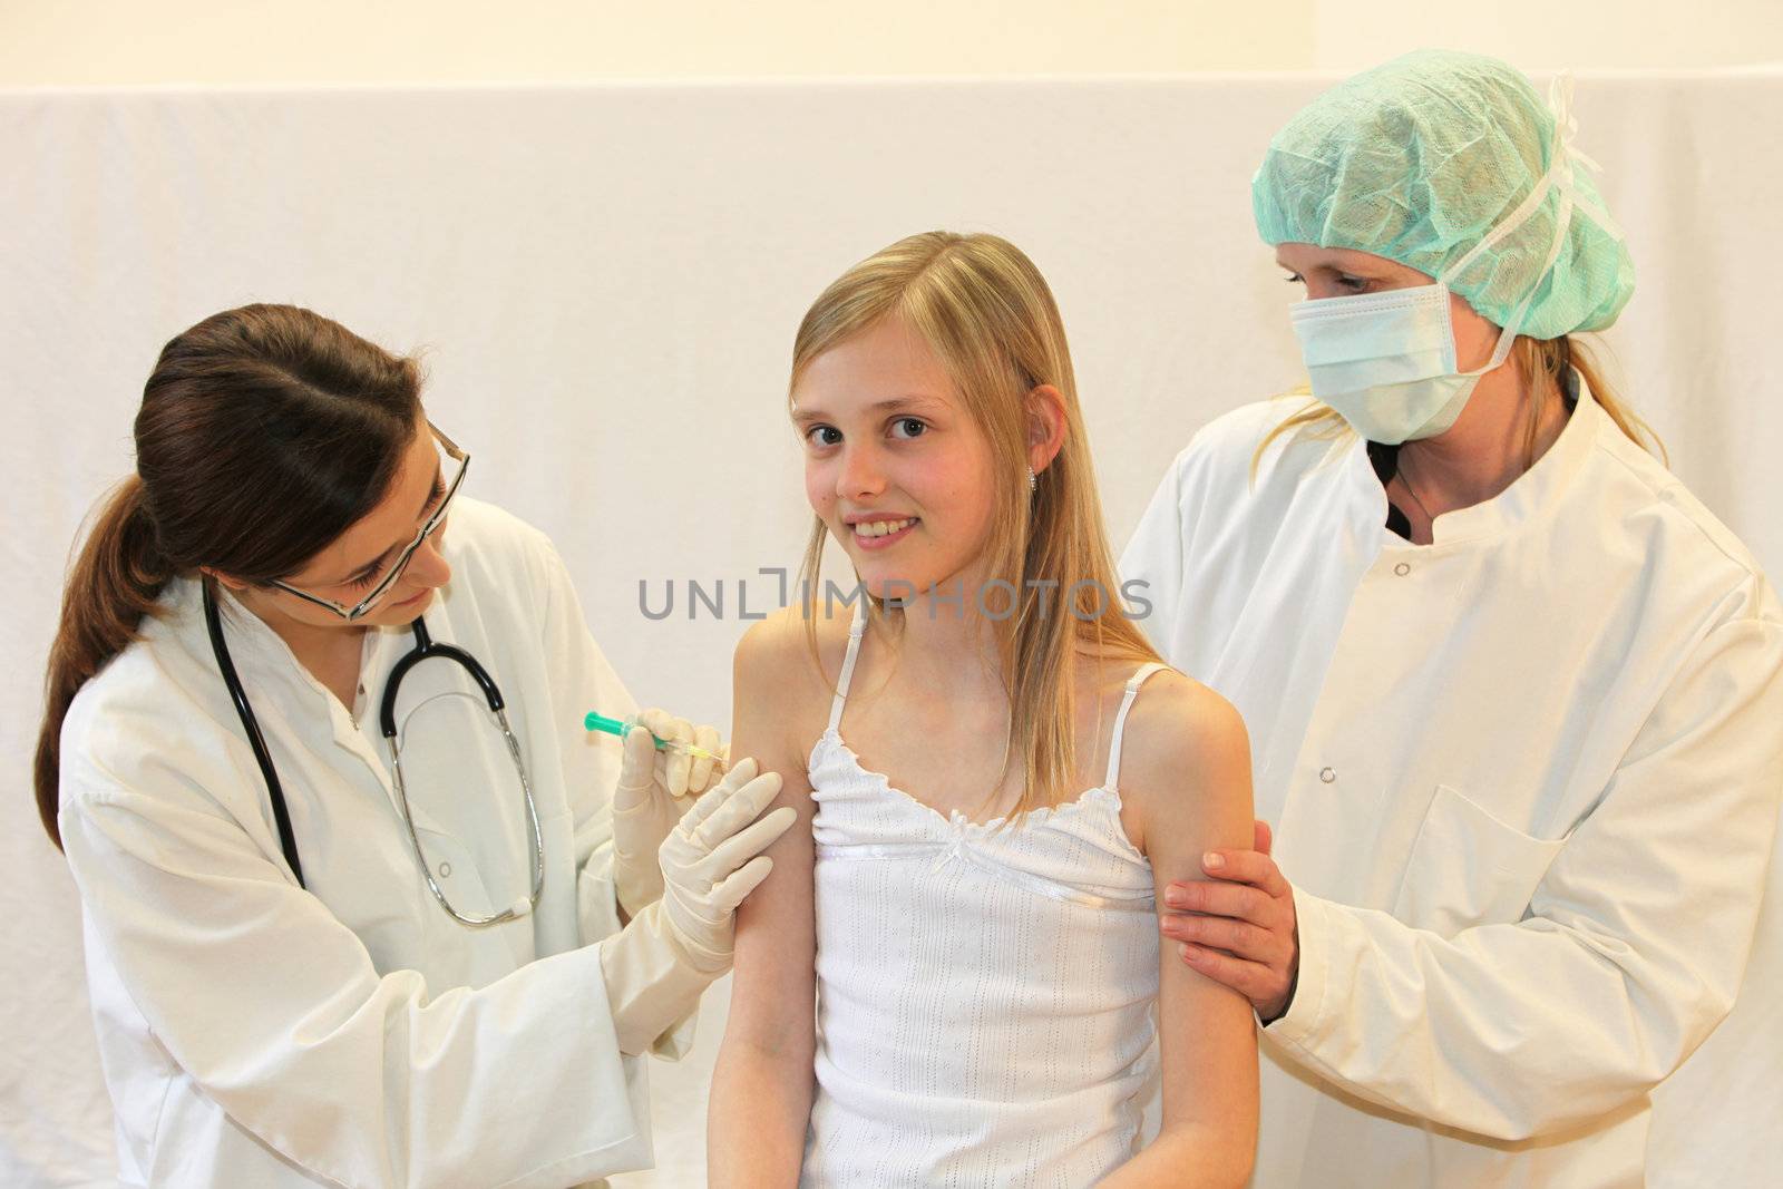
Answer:
<path fill-rule="evenodd" d="M 36 756 L 125 1185 L 599 1184 L 653 1160 L 779 781 L 658 750 L 419 371 L 308 310 L 162 351 Z M 722 777 L 722 779 L 720 779 Z"/>

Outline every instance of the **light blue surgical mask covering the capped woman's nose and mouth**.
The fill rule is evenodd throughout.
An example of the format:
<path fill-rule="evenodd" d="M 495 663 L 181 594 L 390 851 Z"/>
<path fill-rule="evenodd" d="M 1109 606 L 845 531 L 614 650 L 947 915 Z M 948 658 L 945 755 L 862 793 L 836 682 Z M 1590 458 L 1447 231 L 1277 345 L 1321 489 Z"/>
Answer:
<path fill-rule="evenodd" d="M 1294 335 L 1312 396 L 1369 442 L 1398 446 L 1455 424 L 1480 376 L 1510 357 L 1507 326 L 1485 367 L 1455 371 L 1450 289 L 1441 280 L 1353 298 L 1298 301 Z"/>

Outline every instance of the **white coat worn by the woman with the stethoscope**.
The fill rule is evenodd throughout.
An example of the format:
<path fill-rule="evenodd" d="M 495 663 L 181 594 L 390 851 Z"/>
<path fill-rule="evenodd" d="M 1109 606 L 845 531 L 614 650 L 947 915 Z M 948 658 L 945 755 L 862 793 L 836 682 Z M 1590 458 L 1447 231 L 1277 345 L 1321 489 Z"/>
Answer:
<path fill-rule="evenodd" d="M 460 499 L 437 642 L 494 676 L 544 827 L 544 895 L 469 929 L 433 900 L 378 731 L 407 629 L 366 633 L 351 713 L 234 599 L 230 654 L 266 734 L 308 891 L 205 635 L 196 581 L 89 681 L 62 729 L 61 829 L 127 1185 L 553 1187 L 651 1162 L 642 1057 L 617 1048 L 596 943 L 617 931 L 610 795 L 635 709 L 549 540 Z M 398 717 L 465 670 L 430 660 Z M 403 772 L 460 911 L 530 891 L 531 838 L 485 704 L 410 722 Z M 681 1037 L 685 1041 L 685 1037 Z"/>

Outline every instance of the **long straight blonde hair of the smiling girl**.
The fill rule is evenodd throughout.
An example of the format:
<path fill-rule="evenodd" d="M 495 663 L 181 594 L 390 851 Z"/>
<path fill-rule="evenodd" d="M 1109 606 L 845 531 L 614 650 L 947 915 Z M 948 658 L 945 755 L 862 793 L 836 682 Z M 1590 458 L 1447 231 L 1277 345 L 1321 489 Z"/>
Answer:
<path fill-rule="evenodd" d="M 902 319 L 927 342 L 966 414 L 990 439 L 995 510 L 982 554 L 984 581 L 990 586 L 1002 579 L 1015 592 L 1015 611 L 991 620 L 1009 688 L 1004 772 L 1011 752 L 1027 759 L 1013 822 L 1068 795 L 1066 783 L 1077 770 L 1079 649 L 1134 661 L 1159 656 L 1123 615 L 1064 324 L 1034 262 L 997 235 L 925 232 L 900 239 L 838 276 L 806 312 L 793 340 L 792 387 L 817 357 L 884 317 Z M 1039 385 L 1059 390 L 1064 444 L 1031 494 L 1029 394 Z M 801 574 L 813 654 L 827 537 L 818 517 Z M 902 608 L 867 597 L 867 613 L 884 638 L 902 631 Z"/>

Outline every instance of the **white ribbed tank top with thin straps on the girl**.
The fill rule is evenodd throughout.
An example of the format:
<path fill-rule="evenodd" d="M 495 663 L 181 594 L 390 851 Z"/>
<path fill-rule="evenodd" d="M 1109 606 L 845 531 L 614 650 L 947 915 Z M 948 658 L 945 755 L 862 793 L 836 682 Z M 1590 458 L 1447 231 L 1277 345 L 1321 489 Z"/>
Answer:
<path fill-rule="evenodd" d="M 974 824 L 842 742 L 863 627 L 808 765 L 818 1037 L 801 1184 L 1089 1185 L 1132 1155 L 1155 1071 L 1152 866 L 1114 779 L 1127 709 L 1163 665 L 1127 683 L 1100 786 Z"/>

